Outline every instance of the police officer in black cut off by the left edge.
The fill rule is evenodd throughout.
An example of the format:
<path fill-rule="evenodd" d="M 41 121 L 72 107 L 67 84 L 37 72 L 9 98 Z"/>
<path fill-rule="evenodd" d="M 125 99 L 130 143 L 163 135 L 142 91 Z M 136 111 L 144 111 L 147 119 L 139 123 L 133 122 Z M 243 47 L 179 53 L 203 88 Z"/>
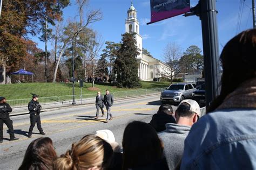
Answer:
<path fill-rule="evenodd" d="M 9 129 L 10 139 L 18 140 L 19 138 L 15 138 L 14 136 L 14 126 L 12 126 L 12 120 L 9 117 L 9 112 L 12 109 L 8 103 L 6 103 L 5 97 L 0 97 L 0 143 L 3 143 L 3 126 L 4 123 Z"/>

